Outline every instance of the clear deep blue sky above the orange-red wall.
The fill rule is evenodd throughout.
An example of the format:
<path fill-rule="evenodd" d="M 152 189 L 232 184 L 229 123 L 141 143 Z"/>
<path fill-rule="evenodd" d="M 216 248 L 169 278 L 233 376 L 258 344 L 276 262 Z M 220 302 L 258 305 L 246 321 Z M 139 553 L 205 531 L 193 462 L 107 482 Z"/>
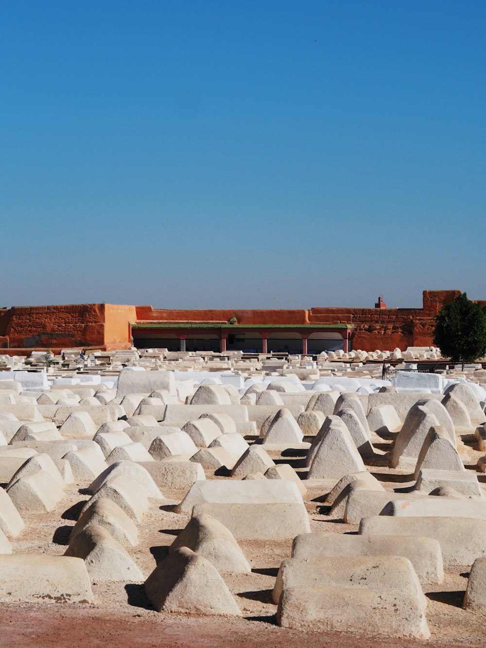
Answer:
<path fill-rule="evenodd" d="M 0 4 L 0 306 L 486 299 L 484 0 Z"/>

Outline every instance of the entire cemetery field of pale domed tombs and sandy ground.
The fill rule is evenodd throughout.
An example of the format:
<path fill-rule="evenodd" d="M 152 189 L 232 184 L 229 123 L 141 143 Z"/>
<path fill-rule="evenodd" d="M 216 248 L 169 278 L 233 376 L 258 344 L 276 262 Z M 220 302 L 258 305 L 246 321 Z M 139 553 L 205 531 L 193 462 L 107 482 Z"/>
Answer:
<path fill-rule="evenodd" d="M 486 371 L 351 353 L 14 361 L 0 646 L 484 645 Z"/>

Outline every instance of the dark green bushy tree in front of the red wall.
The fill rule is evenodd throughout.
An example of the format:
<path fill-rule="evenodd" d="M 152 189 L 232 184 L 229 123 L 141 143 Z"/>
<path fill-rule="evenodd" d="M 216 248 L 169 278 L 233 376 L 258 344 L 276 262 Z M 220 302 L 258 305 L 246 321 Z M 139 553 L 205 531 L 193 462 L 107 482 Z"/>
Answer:
<path fill-rule="evenodd" d="M 452 362 L 474 362 L 486 354 L 486 316 L 481 304 L 465 292 L 435 317 L 434 344 Z"/>

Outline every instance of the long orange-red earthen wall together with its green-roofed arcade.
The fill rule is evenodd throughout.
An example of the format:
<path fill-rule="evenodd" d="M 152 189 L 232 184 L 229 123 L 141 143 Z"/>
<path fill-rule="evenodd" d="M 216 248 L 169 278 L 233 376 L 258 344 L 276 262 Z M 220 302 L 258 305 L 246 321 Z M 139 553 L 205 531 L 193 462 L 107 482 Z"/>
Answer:
<path fill-rule="evenodd" d="M 172 351 L 406 349 L 432 345 L 435 316 L 459 290 L 424 290 L 422 308 L 167 310 L 151 306 L 81 304 L 0 309 L 2 353 L 86 347 L 110 351 L 167 347 Z"/>

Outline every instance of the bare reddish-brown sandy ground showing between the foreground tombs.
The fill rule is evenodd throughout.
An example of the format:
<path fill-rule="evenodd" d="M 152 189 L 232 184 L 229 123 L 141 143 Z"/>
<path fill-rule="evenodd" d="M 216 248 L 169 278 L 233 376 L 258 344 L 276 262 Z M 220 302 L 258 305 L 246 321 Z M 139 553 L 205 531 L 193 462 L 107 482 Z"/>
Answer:
<path fill-rule="evenodd" d="M 473 470 L 482 453 L 472 448 L 472 441 L 462 450 L 468 469 Z M 379 452 L 387 449 L 384 440 Z M 279 458 L 304 472 L 299 456 Z M 410 475 L 386 467 L 384 457 L 376 457 L 369 470 L 382 481 L 386 489 L 406 488 Z M 207 474 L 208 478 L 214 478 Z M 480 476 L 483 480 L 484 476 Z M 332 519 L 329 507 L 323 504 L 329 488 L 309 489 L 305 502 L 312 531 L 356 533 L 357 527 Z M 24 516 L 27 529 L 12 541 L 14 553 L 46 553 L 62 555 L 69 533 L 80 509 L 89 499 L 87 484 L 71 485 L 65 497 L 49 514 Z M 483 486 L 483 488 L 486 486 Z M 133 560 L 145 577 L 157 562 L 167 555 L 167 548 L 189 516 L 174 513 L 174 507 L 185 492 L 163 491 L 166 500 L 154 504 L 139 524 L 140 544 L 129 548 Z M 281 561 L 290 557 L 292 542 L 240 542 L 252 572 L 247 575 L 224 575 L 242 610 L 243 618 L 198 618 L 157 613 L 150 607 L 141 583 L 93 582 L 93 605 L 60 605 L 45 603 L 0 604 L 0 645 L 27 646 L 299 646 L 351 647 L 359 645 L 391 647 L 406 645 L 481 646 L 486 644 L 486 614 L 467 612 L 462 600 L 469 575 L 467 568 L 446 572 L 444 583 L 426 590 L 429 599 L 427 619 L 432 638 L 418 640 L 380 640 L 367 637 L 365 629 L 358 638 L 351 634 L 303 633 L 283 629 L 275 623 L 276 605 L 271 593 Z M 203 596 L 203 594 L 202 594 Z"/>

